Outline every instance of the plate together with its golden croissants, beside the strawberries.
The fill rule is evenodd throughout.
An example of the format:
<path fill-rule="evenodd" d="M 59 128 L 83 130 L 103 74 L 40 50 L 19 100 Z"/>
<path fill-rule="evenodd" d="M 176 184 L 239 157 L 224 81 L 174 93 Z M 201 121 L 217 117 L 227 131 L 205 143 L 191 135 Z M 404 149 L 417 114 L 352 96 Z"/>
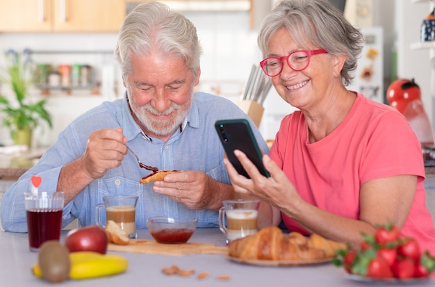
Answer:
<path fill-rule="evenodd" d="M 315 265 L 331 262 L 338 249 L 346 248 L 344 243 L 318 234 L 309 237 L 298 232 L 284 234 L 279 227 L 267 227 L 254 235 L 231 241 L 228 258 L 249 265 Z"/>

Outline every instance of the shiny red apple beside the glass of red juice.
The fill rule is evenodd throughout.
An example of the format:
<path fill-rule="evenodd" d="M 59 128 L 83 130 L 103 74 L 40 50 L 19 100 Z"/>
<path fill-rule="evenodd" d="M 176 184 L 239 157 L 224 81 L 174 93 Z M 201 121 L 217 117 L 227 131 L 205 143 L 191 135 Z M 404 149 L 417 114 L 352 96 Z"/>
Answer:
<path fill-rule="evenodd" d="M 69 252 L 93 251 L 106 254 L 107 244 L 106 231 L 97 225 L 72 229 L 65 238 Z"/>

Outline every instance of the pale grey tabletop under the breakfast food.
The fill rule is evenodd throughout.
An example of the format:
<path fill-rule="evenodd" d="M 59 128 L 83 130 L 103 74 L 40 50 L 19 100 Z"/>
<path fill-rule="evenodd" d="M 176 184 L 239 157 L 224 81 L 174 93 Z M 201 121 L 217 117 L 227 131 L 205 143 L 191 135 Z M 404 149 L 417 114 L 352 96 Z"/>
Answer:
<path fill-rule="evenodd" d="M 63 231 L 61 241 L 65 238 Z M 138 238 L 151 239 L 147 229 L 138 230 Z M 213 243 L 224 246 L 224 236 L 219 229 L 197 229 L 192 243 Z M 31 266 L 38 261 L 38 253 L 28 249 L 27 233 L 0 232 L 0 285 L 1 286 L 49 286 L 46 281 L 31 274 Z M 343 268 L 332 263 L 320 265 L 264 267 L 244 265 L 230 261 L 224 254 L 195 254 L 187 256 L 167 256 L 130 252 L 108 252 L 121 254 L 129 260 L 129 269 L 112 277 L 68 280 L 58 286 L 363 286 L 361 282 L 345 278 Z M 178 265 L 183 270 L 194 269 L 210 272 L 207 279 L 167 276 L 163 268 Z M 219 281 L 219 275 L 229 275 L 229 281 Z M 371 286 L 372 284 L 365 284 Z M 407 284 L 407 286 L 412 286 Z M 434 279 L 418 282 L 416 286 L 434 286 Z"/>

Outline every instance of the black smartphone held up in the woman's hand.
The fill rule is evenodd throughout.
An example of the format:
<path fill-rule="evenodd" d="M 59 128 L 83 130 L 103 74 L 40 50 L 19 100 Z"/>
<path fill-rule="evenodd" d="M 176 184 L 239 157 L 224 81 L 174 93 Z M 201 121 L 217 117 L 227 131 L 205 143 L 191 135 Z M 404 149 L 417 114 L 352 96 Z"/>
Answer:
<path fill-rule="evenodd" d="M 234 155 L 234 149 L 243 151 L 263 176 L 270 176 L 263 165 L 261 150 L 258 148 L 254 133 L 252 133 L 251 126 L 247 120 L 218 120 L 215 122 L 215 129 L 228 160 L 239 174 L 249 179 L 249 175 L 243 168 L 243 165 Z"/>

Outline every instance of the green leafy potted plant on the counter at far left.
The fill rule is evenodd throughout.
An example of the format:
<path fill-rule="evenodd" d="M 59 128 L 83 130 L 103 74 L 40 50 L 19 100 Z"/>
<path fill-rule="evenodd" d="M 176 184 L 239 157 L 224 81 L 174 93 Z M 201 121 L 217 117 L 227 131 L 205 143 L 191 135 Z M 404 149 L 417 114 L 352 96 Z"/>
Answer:
<path fill-rule="evenodd" d="M 45 108 L 47 99 L 32 101 L 28 89 L 33 83 L 33 64 L 26 59 L 26 52 L 19 54 L 13 50 L 5 53 L 6 69 L 2 69 L 0 81 L 8 83 L 15 94 L 15 100 L 0 95 L 0 108 L 3 126 L 10 129 L 10 136 L 16 145 L 31 145 L 33 129 L 41 121 L 52 127 L 51 115 Z M 28 56 L 28 55 L 27 55 Z"/>

